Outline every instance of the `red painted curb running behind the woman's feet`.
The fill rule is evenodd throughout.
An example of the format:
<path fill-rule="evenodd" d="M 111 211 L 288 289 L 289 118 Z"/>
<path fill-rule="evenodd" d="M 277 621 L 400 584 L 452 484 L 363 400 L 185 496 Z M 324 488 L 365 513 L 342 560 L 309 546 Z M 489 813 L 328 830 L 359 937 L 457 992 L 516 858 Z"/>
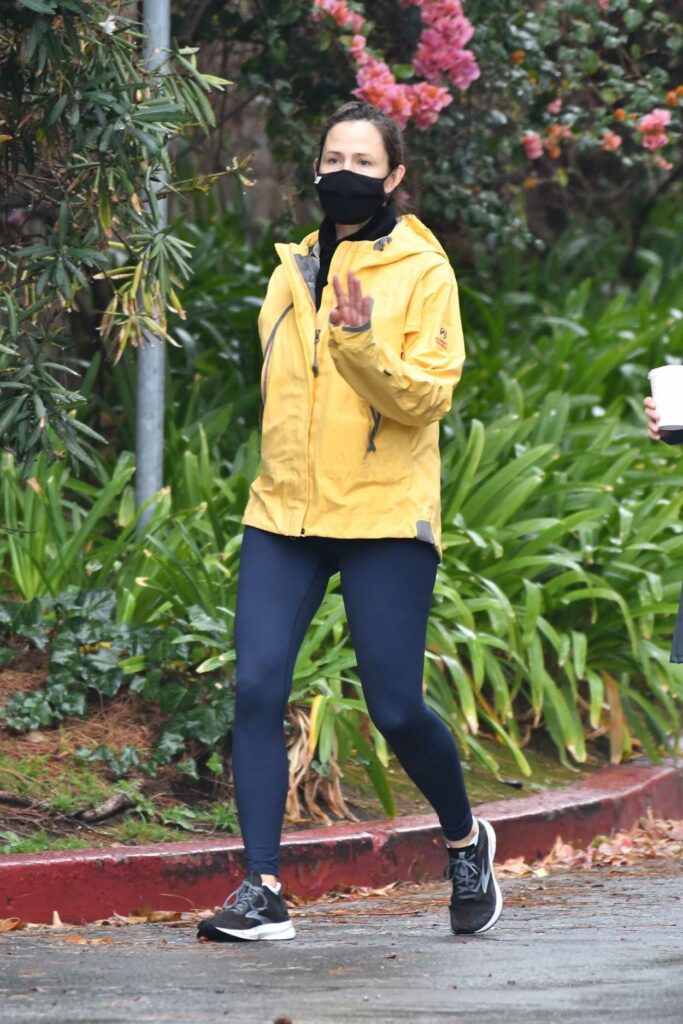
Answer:
<path fill-rule="evenodd" d="M 587 843 L 628 828 L 647 811 L 683 817 L 683 775 L 671 766 L 604 768 L 562 790 L 482 804 L 495 825 L 497 860 L 535 859 L 558 835 Z M 140 907 L 215 906 L 243 878 L 240 839 L 0 857 L 0 918 L 82 923 Z M 287 892 L 378 887 L 442 877 L 443 844 L 432 814 L 287 833 L 282 874 Z"/>

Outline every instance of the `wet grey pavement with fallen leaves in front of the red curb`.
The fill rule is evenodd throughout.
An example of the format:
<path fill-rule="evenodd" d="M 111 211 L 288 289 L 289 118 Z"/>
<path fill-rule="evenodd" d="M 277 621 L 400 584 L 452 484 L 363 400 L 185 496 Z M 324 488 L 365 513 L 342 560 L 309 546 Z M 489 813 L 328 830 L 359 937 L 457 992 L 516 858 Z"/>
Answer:
<path fill-rule="evenodd" d="M 300 908 L 291 942 L 197 942 L 169 924 L 10 932 L 0 1021 L 683 1024 L 683 863 L 502 888 L 478 938 L 450 934 L 442 885 Z"/>

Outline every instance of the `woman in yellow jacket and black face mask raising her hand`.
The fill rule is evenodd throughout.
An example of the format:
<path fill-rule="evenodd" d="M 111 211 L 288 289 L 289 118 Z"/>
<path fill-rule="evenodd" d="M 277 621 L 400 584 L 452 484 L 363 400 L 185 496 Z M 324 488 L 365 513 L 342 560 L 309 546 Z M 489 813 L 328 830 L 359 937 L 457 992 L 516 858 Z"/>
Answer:
<path fill-rule="evenodd" d="M 453 881 L 451 927 L 501 912 L 496 838 L 472 817 L 453 736 L 422 695 L 440 557 L 439 419 L 464 345 L 453 270 L 398 216 L 396 125 L 347 103 L 314 164 L 326 214 L 281 258 L 259 316 L 261 470 L 244 523 L 236 610 L 236 799 L 248 876 L 204 920 L 210 939 L 289 939 L 278 881 L 288 788 L 283 720 L 304 634 L 330 577 L 341 590 L 368 709 L 436 811 Z"/>

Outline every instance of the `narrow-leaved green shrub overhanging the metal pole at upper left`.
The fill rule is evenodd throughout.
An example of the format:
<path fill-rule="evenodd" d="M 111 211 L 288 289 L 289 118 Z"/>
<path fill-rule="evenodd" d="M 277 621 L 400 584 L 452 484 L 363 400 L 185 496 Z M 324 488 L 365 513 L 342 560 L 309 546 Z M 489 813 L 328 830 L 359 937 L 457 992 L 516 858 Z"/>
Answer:
<path fill-rule="evenodd" d="M 101 336 L 121 352 L 145 332 L 168 338 L 168 308 L 182 313 L 189 248 L 160 227 L 159 182 L 181 195 L 242 173 L 236 163 L 175 175 L 168 140 L 214 125 L 208 97 L 229 83 L 202 73 L 191 47 L 151 67 L 127 13 L 101 0 L 17 0 L 0 27 L 11 208 L 0 238 L 0 436 L 27 470 L 41 452 L 87 462 L 96 437 L 63 384 L 71 322 L 103 313 Z M 54 347 L 59 361 L 46 357 Z"/>

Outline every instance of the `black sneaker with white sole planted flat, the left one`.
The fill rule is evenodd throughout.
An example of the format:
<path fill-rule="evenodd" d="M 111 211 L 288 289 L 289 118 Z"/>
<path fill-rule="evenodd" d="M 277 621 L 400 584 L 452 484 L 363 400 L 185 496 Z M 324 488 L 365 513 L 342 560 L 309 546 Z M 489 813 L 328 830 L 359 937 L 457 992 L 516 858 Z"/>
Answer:
<path fill-rule="evenodd" d="M 218 913 L 204 918 L 197 928 L 197 938 L 215 942 L 236 939 L 293 939 L 294 926 L 285 900 L 261 883 L 252 871 L 239 889 L 227 897 Z"/>

